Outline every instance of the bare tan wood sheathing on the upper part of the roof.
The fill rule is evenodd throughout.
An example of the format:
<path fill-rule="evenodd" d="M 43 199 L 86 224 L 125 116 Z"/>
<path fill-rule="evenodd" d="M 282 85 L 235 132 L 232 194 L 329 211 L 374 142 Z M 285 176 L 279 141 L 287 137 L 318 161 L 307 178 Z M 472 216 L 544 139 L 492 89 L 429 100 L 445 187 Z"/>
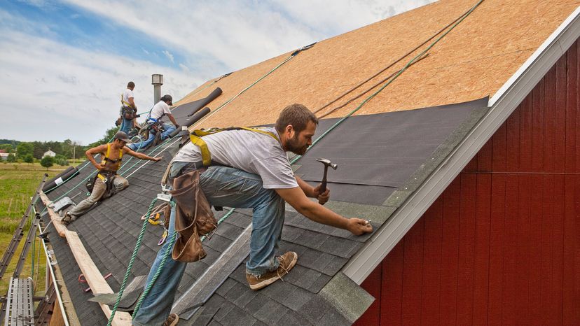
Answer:
<path fill-rule="evenodd" d="M 292 103 L 305 104 L 315 111 L 427 40 L 475 3 L 441 0 L 321 41 L 286 62 L 201 125 L 193 127 L 273 123 L 279 111 Z M 579 3 L 569 0 L 483 1 L 429 50 L 427 58 L 411 66 L 356 114 L 453 104 L 495 94 Z M 290 53 L 235 71 L 205 90 L 194 90 L 179 104 L 206 97 L 215 87 L 221 87 L 223 94 L 209 106 L 214 109 L 284 61 Z M 401 69 L 411 58 L 401 60 L 320 113 L 345 103 Z M 198 90 L 208 83 L 212 80 Z M 329 118 L 347 114 L 366 96 Z"/>

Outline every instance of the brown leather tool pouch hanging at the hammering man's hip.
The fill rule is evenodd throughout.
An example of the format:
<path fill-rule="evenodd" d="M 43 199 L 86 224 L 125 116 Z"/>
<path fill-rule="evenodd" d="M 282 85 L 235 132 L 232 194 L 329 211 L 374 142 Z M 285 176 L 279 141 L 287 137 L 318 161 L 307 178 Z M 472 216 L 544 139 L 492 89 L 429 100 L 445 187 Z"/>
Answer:
<path fill-rule="evenodd" d="M 205 256 L 200 235 L 207 235 L 217 227 L 212 208 L 200 189 L 200 171 L 195 170 L 175 178 L 170 191 L 175 206 L 175 242 L 172 258 L 179 262 L 197 262 Z"/>

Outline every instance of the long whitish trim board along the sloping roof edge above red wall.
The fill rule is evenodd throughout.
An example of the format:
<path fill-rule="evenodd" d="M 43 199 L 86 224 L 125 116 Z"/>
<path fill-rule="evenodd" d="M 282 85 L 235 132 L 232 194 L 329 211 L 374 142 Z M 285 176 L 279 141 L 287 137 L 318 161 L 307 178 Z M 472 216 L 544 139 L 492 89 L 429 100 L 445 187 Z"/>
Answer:
<path fill-rule="evenodd" d="M 422 185 L 393 213 L 365 246 L 343 267 L 361 284 L 387 257 L 427 208 L 443 193 L 497 129 L 525 99 L 549 69 L 580 36 L 580 7 L 542 43 L 518 71 L 490 99 L 490 110 Z"/>

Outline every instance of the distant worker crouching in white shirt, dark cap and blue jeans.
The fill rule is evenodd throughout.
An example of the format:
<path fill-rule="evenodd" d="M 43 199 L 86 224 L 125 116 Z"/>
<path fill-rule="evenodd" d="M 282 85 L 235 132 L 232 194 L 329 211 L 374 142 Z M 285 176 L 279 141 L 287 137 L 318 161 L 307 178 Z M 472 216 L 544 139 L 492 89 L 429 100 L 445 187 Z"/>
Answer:
<path fill-rule="evenodd" d="M 163 95 L 160 101 L 158 101 L 157 104 L 151 108 L 149 117 L 147 117 L 146 123 L 149 125 L 149 137 L 145 141 L 141 141 L 140 143 L 132 143 L 128 147 L 132 150 L 147 148 L 147 146 L 149 146 L 149 144 L 155 140 L 158 132 L 161 132 L 160 140 L 163 140 L 166 139 L 175 129 L 179 128 L 179 125 L 175 121 L 175 118 L 173 118 L 169 108 L 172 105 L 173 98 L 171 95 Z M 163 122 L 163 117 L 165 115 L 167 115 L 167 118 L 171 120 L 173 125 Z"/>

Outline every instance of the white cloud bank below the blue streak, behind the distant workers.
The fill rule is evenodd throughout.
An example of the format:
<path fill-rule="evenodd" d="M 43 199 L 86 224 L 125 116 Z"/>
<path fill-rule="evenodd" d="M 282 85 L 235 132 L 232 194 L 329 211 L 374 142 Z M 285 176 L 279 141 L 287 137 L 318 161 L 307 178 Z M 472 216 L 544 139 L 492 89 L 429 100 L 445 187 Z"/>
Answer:
<path fill-rule="evenodd" d="M 0 129 L 3 139 L 68 138 L 87 144 L 113 125 L 129 80 L 136 84 L 139 111 L 153 106 L 153 73 L 170 76 L 163 93 L 175 99 L 205 81 L 181 69 L 80 50 L 18 31 L 1 33 L 0 48 L 0 97 L 15 104 L 0 108 L 8 121 Z"/>

